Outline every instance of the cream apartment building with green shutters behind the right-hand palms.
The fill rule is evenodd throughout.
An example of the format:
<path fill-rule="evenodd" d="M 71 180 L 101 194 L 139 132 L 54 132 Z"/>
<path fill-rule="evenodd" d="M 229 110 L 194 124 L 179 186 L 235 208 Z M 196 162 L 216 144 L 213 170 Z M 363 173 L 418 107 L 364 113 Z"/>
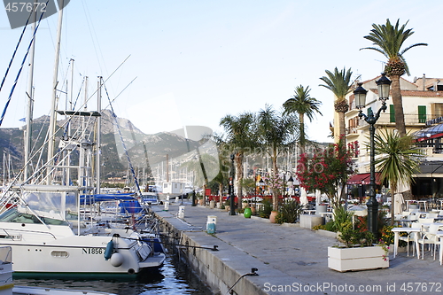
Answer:
<path fill-rule="evenodd" d="M 363 113 L 377 113 L 382 106 L 376 84 L 379 78 L 362 82 L 362 87 L 368 90 Z M 420 173 L 415 175 L 412 193 L 416 198 L 443 198 L 443 78 L 423 76 L 415 78 L 414 82 L 400 78 L 400 89 L 407 131 L 415 136 L 417 144 L 423 147 L 426 154 L 420 165 Z M 356 142 L 360 150 L 355 159 L 358 175 L 354 175 L 348 184 L 361 185 L 362 190 L 366 190 L 364 185 L 369 184 L 369 124 L 358 116 L 354 93 L 348 94 L 346 99 L 349 103 L 349 111 L 345 114 L 346 143 Z M 395 128 L 391 98 L 386 101 L 386 105 L 386 112 L 381 113 L 375 124 L 376 132 L 382 128 Z M 334 125 L 338 127 L 338 124 Z"/>

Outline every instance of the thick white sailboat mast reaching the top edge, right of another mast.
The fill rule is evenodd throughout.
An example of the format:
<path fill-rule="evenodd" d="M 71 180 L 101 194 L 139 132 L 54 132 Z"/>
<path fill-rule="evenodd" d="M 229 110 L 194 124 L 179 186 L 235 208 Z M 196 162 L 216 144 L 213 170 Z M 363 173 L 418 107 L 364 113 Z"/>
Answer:
<path fill-rule="evenodd" d="M 64 0 L 59 1 L 59 7 L 65 7 Z M 47 184 L 51 184 L 51 169 L 53 166 L 54 156 L 54 146 L 55 146 L 55 128 L 57 122 L 57 113 L 56 113 L 56 100 L 57 100 L 57 84 L 58 84 L 58 59 L 60 55 L 60 42 L 61 42 L 61 25 L 63 20 L 63 9 L 58 10 L 58 28 L 57 28 L 57 43 L 56 43 L 56 51 L 55 51 L 55 60 L 54 60 L 54 77 L 52 82 L 52 101 L 51 101 L 51 119 L 50 119 L 50 128 L 49 128 L 49 143 L 48 143 L 48 177 Z"/>

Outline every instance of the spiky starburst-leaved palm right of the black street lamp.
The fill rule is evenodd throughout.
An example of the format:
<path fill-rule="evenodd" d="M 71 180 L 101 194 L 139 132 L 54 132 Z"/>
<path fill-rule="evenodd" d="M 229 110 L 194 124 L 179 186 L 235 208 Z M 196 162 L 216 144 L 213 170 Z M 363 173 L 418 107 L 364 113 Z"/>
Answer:
<path fill-rule="evenodd" d="M 381 132 L 381 135 L 374 136 L 375 153 L 378 155 L 375 165 L 380 173 L 380 182 L 389 182 L 392 195 L 392 217 L 393 224 L 393 204 L 395 204 L 395 193 L 399 183 L 410 186 L 413 182 L 412 175 L 420 171 L 420 160 L 424 155 L 413 145 L 412 136 L 400 136 L 399 132 Z"/>

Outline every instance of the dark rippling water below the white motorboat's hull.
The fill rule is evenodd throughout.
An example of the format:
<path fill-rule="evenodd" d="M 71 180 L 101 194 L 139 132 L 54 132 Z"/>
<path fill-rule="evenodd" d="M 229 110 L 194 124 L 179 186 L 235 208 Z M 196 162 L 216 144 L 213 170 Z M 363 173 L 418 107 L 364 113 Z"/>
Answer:
<path fill-rule="evenodd" d="M 38 280 L 14 279 L 15 285 L 105 291 L 118 295 L 196 294 L 213 293 L 192 274 L 190 268 L 176 257 L 167 257 L 156 272 L 147 272 L 136 280 Z"/>

